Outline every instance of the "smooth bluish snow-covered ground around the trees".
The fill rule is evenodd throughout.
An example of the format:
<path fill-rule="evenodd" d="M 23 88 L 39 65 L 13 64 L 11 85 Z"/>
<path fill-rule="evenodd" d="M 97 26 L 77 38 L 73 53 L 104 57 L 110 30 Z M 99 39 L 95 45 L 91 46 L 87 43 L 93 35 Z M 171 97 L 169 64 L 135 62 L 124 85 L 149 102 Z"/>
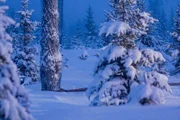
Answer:
<path fill-rule="evenodd" d="M 80 60 L 81 50 L 64 51 L 69 68 L 63 69 L 62 87 L 86 87 L 93 79 L 97 51 L 89 50 L 87 60 Z M 170 77 L 180 82 L 180 75 Z M 180 87 L 172 87 L 164 105 L 91 107 L 85 93 L 42 92 L 40 83 L 27 86 L 31 94 L 32 114 L 36 120 L 180 120 Z"/>

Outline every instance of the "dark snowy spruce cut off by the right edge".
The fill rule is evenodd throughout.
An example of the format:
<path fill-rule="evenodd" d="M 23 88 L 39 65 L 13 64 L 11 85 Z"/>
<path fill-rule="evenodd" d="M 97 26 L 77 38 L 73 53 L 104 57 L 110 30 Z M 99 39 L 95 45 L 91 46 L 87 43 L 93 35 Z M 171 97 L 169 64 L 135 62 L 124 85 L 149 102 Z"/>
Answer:
<path fill-rule="evenodd" d="M 180 4 L 178 6 L 177 12 L 176 12 L 176 18 L 175 18 L 175 30 L 174 32 L 171 34 L 173 39 L 174 39 L 174 44 L 173 44 L 173 48 L 174 49 L 178 49 L 180 52 Z M 180 55 L 178 55 L 177 58 L 177 62 L 176 62 L 176 71 L 175 73 L 179 73 L 180 72 Z"/>

